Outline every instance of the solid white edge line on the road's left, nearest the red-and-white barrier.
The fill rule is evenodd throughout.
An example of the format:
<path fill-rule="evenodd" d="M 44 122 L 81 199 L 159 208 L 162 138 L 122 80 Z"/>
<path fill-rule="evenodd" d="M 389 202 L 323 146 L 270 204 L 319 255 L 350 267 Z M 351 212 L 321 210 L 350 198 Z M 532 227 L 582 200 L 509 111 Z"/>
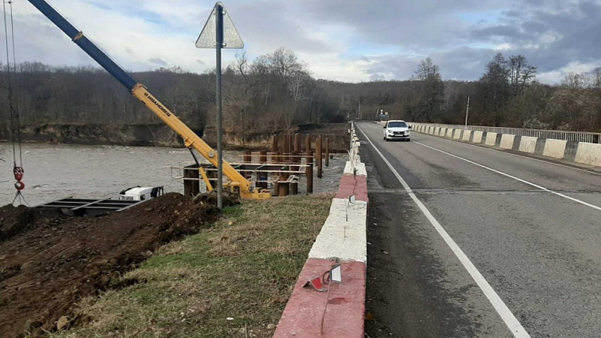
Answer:
<path fill-rule="evenodd" d="M 465 266 L 468 273 L 472 276 L 472 278 L 474 278 L 474 281 L 478 284 L 478 286 L 480 286 L 480 289 L 482 290 L 482 292 L 484 292 L 484 295 L 486 295 L 486 298 L 488 298 L 490 304 L 492 304 L 496 312 L 499 314 L 499 316 L 501 316 L 501 319 L 505 322 L 505 325 L 507 325 L 511 333 L 513 333 L 513 336 L 516 338 L 531 338 L 530 335 L 526 332 L 526 330 L 522 327 L 522 324 L 520 324 L 520 322 L 517 320 L 516 316 L 514 316 L 513 313 L 511 313 L 511 310 L 509 310 L 507 305 L 505 305 L 505 303 L 501 300 L 501 297 L 499 297 L 499 295 L 496 294 L 492 286 L 490 286 L 490 284 L 486 281 L 486 279 L 480 273 L 480 271 L 478 271 L 478 269 L 474 266 L 471 260 L 469 260 L 468 256 L 466 256 L 466 254 L 463 253 L 463 250 L 461 250 L 459 245 L 457 245 L 457 243 L 453 241 L 453 238 L 451 238 L 451 236 L 447 233 L 447 230 L 445 230 L 441 226 L 441 224 L 438 223 L 436 218 L 434 218 L 434 216 L 430 214 L 430 210 L 428 210 L 424 203 L 422 203 L 419 200 L 419 198 L 417 198 L 417 196 L 413 193 L 411 188 L 409 188 L 409 185 L 407 185 L 407 182 L 405 182 L 403 177 L 401 177 L 400 174 L 398 174 L 398 172 L 394 169 L 394 167 L 392 167 L 392 164 L 390 164 L 390 162 L 388 162 L 388 159 L 386 159 L 384 155 L 382 155 L 380 150 L 377 149 L 376 145 L 373 144 L 373 142 L 371 142 L 370 138 L 367 137 L 367 134 L 365 134 L 365 132 L 359 126 L 358 128 L 359 131 L 361 131 L 361 133 L 365 136 L 365 138 L 367 138 L 367 141 L 371 144 L 374 150 L 376 150 L 378 155 L 380 155 L 380 157 L 386 163 L 388 168 L 390 168 L 394 176 L 397 177 L 398 182 L 401 182 L 401 185 L 403 185 L 403 188 L 405 189 L 407 194 L 409 194 L 411 199 L 415 202 L 415 204 L 417 204 L 421 212 L 426 216 L 428 221 L 430 221 L 430 224 L 434 226 L 436 231 L 441 235 L 442 239 L 444 239 L 444 241 L 447 242 L 447 245 L 451 248 L 455 256 L 457 256 L 459 261 L 463 264 L 463 266 Z"/>

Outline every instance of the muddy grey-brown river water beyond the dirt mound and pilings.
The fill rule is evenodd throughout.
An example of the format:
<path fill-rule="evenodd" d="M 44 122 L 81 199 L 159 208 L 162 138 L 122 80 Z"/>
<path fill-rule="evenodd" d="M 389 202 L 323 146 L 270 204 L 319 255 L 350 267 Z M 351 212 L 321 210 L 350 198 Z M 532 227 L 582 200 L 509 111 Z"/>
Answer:
<path fill-rule="evenodd" d="M 13 149 L 0 144 L 0 205 L 15 197 Z M 241 162 L 240 152 L 224 152 L 229 162 Z M 19 153 L 17 149 L 17 164 Z M 200 156 L 201 157 L 201 156 Z M 179 170 L 169 167 L 191 164 L 188 149 L 166 147 L 74 146 L 23 144 L 23 196 L 30 206 L 60 198 L 117 198 L 130 186 L 163 186 L 165 192 L 183 193 Z M 346 154 L 334 154 L 323 177 L 314 177 L 314 192 L 336 191 Z M 299 194 L 304 194 L 304 177 Z M 17 202 L 15 203 L 17 204 Z"/>

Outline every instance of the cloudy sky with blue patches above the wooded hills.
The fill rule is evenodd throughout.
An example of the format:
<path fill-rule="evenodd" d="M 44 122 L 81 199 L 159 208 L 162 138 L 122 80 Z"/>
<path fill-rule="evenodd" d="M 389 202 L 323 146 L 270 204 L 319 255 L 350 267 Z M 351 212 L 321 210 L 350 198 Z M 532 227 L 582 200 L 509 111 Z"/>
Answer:
<path fill-rule="evenodd" d="M 314 78 L 407 79 L 419 60 L 432 57 L 444 79 L 474 80 L 496 52 L 525 55 L 538 67 L 538 80 L 549 84 L 601 66 L 601 0 L 223 2 L 249 57 L 289 48 Z M 215 1 L 50 3 L 127 70 L 214 67 L 215 51 L 194 43 Z M 96 66 L 28 1 L 14 0 L 13 14 L 17 62 Z M 225 50 L 224 63 L 234 54 Z"/>

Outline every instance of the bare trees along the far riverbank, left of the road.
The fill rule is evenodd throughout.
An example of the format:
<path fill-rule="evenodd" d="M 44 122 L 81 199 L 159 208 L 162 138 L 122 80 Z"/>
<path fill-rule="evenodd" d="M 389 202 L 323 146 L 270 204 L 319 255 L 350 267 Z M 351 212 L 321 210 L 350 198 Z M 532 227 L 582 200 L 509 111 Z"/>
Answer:
<path fill-rule="evenodd" d="M 18 112 L 23 124 L 158 123 L 127 90 L 99 67 L 52 67 L 38 62 L 0 64 L 0 118 Z M 215 71 L 161 67 L 130 73 L 194 129 L 213 123 Z M 340 122 L 337 103 L 317 84 L 307 64 L 279 48 L 248 60 L 237 54 L 223 70 L 224 129 L 269 131 L 307 122 Z"/>

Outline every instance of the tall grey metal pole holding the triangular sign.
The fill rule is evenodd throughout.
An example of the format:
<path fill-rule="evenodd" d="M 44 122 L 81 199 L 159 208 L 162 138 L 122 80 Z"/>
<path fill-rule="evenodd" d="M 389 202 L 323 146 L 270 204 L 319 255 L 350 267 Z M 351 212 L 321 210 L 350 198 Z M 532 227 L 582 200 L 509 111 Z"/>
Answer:
<path fill-rule="evenodd" d="M 217 207 L 222 209 L 223 207 L 223 176 L 222 176 L 222 135 L 221 135 L 221 113 L 222 103 L 221 100 L 221 48 L 224 42 L 224 21 L 223 21 L 223 6 L 221 4 L 215 5 L 216 17 L 215 17 L 215 56 L 216 56 L 216 78 L 217 78 Z"/>

